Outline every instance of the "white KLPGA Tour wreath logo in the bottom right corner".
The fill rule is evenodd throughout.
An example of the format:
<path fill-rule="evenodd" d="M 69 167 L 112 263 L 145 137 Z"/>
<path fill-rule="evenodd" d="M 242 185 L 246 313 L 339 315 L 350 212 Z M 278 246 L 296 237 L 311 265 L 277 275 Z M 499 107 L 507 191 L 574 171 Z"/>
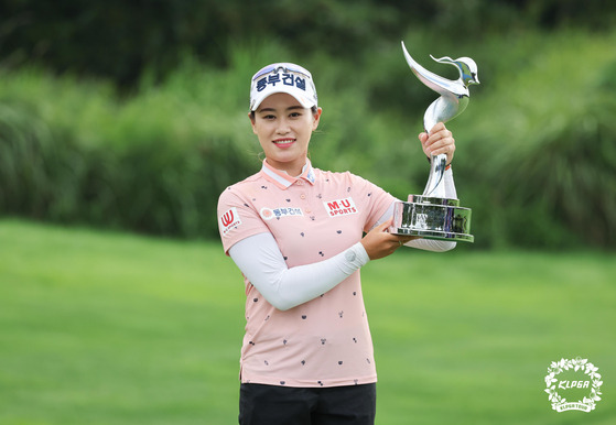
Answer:
<path fill-rule="evenodd" d="M 544 390 L 552 402 L 552 408 L 556 412 L 594 410 L 596 402 L 601 400 L 603 384 L 597 371 L 598 368 L 587 359 L 552 361 L 545 375 L 547 389 Z M 579 400 L 568 401 L 565 395 Z"/>

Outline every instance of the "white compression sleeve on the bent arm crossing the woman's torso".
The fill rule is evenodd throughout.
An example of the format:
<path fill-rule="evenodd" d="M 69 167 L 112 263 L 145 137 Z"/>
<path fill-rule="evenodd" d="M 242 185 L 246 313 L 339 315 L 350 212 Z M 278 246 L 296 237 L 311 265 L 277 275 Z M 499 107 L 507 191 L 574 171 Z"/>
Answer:
<path fill-rule="evenodd" d="M 361 242 L 312 264 L 289 269 L 271 233 L 240 240 L 229 255 L 275 308 L 285 310 L 326 293 L 369 261 Z"/>

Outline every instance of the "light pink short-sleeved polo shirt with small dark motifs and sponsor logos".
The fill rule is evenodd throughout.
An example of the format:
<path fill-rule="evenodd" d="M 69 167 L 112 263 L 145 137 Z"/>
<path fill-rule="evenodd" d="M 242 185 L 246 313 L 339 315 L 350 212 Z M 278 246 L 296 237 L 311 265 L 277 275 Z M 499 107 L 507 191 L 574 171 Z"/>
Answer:
<path fill-rule="evenodd" d="M 395 198 L 370 182 L 313 168 L 300 177 L 272 168 L 228 187 L 218 200 L 225 252 L 271 232 L 289 268 L 318 262 L 358 242 Z M 377 380 L 359 271 L 336 287 L 285 312 L 246 280 L 241 382 L 338 386 Z"/>

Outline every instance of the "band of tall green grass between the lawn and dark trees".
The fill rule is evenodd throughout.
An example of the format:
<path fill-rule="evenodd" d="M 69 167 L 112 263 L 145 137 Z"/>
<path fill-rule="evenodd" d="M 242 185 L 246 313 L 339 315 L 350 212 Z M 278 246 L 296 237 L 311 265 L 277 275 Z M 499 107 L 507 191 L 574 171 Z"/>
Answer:
<path fill-rule="evenodd" d="M 616 33 L 506 34 L 480 45 L 414 32 L 403 39 L 446 77 L 455 70 L 429 53 L 479 64 L 482 85 L 447 124 L 474 247 L 614 246 Z M 132 92 L 0 69 L 0 214 L 216 238 L 219 194 L 262 160 L 247 117 L 249 79 L 283 61 L 315 76 L 316 167 L 350 170 L 400 198 L 423 190 L 429 168 L 417 134 L 436 95 L 411 74 L 399 44 L 355 62 L 277 43 L 229 48 L 226 69 L 185 55 L 164 81 L 147 72 Z"/>

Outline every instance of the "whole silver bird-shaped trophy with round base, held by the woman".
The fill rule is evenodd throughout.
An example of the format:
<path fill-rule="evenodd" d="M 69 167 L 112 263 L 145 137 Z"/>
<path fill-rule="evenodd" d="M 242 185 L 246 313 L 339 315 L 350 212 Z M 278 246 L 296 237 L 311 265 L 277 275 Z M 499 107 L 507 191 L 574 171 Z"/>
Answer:
<path fill-rule="evenodd" d="M 425 110 L 423 128 L 428 132 L 436 123 L 446 122 L 461 115 L 468 105 L 468 86 L 479 84 L 477 65 L 469 57 L 451 57 L 432 59 L 441 64 L 450 64 L 457 68 L 460 78 L 450 80 L 437 76 L 418 64 L 407 52 L 404 42 L 402 50 L 407 63 L 413 74 L 424 85 L 441 95 Z M 443 175 L 447 155 L 432 155 L 430 175 L 422 195 L 409 195 L 408 201 L 396 201 L 393 206 L 393 235 L 411 235 L 425 239 L 473 242 L 471 235 L 471 209 L 460 206 L 458 199 L 445 197 Z"/>

